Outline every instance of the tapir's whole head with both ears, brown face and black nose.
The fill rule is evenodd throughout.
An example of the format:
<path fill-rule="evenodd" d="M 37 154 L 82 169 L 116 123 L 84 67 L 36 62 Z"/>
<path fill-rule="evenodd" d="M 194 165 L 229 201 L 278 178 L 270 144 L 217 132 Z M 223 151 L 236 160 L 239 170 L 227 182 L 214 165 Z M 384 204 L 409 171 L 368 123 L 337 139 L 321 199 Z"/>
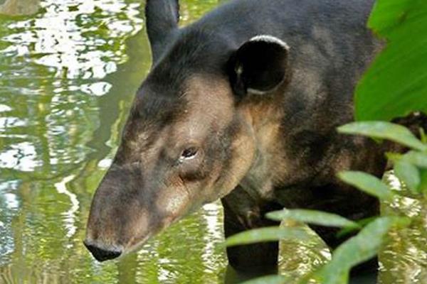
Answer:
<path fill-rule="evenodd" d="M 85 245 L 99 261 L 231 192 L 256 160 L 255 121 L 288 73 L 277 38 L 180 29 L 174 0 L 147 1 L 146 16 L 153 67 L 90 208 Z"/>

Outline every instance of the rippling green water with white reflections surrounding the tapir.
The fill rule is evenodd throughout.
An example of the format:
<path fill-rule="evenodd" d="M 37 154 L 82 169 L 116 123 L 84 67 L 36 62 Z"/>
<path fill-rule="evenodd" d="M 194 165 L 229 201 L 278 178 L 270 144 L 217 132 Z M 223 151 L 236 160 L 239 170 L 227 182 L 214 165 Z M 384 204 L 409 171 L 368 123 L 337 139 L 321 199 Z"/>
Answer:
<path fill-rule="evenodd" d="M 218 2 L 181 1 L 182 23 Z M 0 0 L 0 283 L 246 278 L 226 267 L 218 246 L 218 203 L 120 261 L 97 263 L 82 244 L 91 197 L 150 58 L 140 0 Z M 387 206 L 420 222 L 391 234 L 381 283 L 427 283 L 426 209 L 411 199 Z M 328 257 L 310 242 L 284 246 L 281 263 L 297 279 Z"/>

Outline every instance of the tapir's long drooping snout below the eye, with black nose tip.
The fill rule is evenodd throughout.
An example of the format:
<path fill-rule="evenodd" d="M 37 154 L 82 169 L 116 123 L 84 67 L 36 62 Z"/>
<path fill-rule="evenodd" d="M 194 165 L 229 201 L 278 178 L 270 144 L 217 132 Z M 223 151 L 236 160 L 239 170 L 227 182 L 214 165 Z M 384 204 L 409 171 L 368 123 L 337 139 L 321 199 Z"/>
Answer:
<path fill-rule="evenodd" d="M 188 192 L 179 185 L 169 185 L 174 192 L 164 187 L 164 182 L 144 178 L 138 164 L 112 165 L 93 198 L 84 241 L 98 261 L 137 249 L 186 212 Z"/>

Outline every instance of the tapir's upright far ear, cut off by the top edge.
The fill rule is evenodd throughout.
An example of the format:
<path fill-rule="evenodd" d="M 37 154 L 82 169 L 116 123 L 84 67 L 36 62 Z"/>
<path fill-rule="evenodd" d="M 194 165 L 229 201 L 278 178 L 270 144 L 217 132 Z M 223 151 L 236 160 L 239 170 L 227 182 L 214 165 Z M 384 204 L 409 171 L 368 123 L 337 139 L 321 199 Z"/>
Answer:
<path fill-rule="evenodd" d="M 162 54 L 164 46 L 167 45 L 167 35 L 178 28 L 178 0 L 147 0 L 145 20 L 152 57 L 155 61 Z"/>

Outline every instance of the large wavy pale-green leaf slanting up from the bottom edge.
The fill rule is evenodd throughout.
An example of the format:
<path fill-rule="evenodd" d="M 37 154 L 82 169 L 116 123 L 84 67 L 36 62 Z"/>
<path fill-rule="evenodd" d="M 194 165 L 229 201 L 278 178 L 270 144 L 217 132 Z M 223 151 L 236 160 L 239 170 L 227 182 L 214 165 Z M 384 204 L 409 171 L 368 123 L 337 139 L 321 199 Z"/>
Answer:
<path fill-rule="evenodd" d="M 378 253 L 384 237 L 393 226 L 408 226 L 410 220 L 401 217 L 379 217 L 369 223 L 357 236 L 345 241 L 332 253 L 332 260 L 315 273 L 322 284 L 347 283 L 353 266 L 369 260 Z"/>

